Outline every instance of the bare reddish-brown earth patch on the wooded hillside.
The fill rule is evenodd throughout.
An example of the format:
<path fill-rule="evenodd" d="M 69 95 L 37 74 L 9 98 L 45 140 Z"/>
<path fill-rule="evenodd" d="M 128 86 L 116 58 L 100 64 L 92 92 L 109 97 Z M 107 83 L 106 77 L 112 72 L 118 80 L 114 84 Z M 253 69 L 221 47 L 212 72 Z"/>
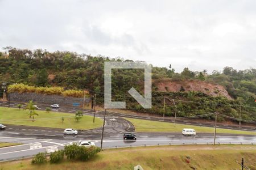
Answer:
<path fill-rule="evenodd" d="M 212 84 L 207 82 L 202 82 L 200 80 L 171 80 L 164 79 L 158 80 L 154 83 L 158 88 L 158 91 L 170 91 L 170 92 L 179 92 L 179 91 L 200 91 L 209 96 L 217 97 L 224 96 L 228 99 L 232 99 L 229 96 L 228 91 L 225 90 L 223 86 L 218 84 Z"/>

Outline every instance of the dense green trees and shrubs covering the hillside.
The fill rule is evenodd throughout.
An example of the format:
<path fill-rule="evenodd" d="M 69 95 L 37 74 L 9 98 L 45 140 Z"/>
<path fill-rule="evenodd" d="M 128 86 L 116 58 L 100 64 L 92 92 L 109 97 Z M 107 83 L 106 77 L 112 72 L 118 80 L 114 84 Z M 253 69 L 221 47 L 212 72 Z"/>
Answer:
<path fill-rule="evenodd" d="M 103 103 L 104 92 L 104 61 L 129 61 L 122 58 L 104 56 L 93 57 L 75 52 L 47 52 L 47 50 L 27 50 L 6 47 L 9 57 L 0 54 L 0 83 L 24 83 L 30 86 L 51 87 L 60 86 L 64 90 L 88 90 L 97 94 L 98 103 Z M 222 72 L 207 70 L 191 71 L 187 67 L 181 73 L 176 73 L 171 65 L 152 67 L 152 79 L 171 78 L 197 79 L 217 83 L 226 88 L 234 100 L 225 97 L 212 97 L 201 92 L 159 92 L 152 87 L 151 110 L 143 109 L 127 93 L 134 87 L 143 94 L 143 70 L 119 69 L 112 75 L 112 94 L 114 100 L 126 100 L 127 108 L 141 112 L 163 113 L 163 98 L 168 96 L 177 101 L 178 116 L 190 116 L 219 111 L 228 116 L 239 117 L 240 106 L 242 118 L 256 120 L 256 69 L 236 70 L 225 67 Z M 2 95 L 2 91 L 0 95 Z M 178 102 L 180 101 L 180 102 Z M 189 102 L 188 102 L 189 101 Z M 174 114 L 174 105 L 167 100 L 166 114 Z"/>

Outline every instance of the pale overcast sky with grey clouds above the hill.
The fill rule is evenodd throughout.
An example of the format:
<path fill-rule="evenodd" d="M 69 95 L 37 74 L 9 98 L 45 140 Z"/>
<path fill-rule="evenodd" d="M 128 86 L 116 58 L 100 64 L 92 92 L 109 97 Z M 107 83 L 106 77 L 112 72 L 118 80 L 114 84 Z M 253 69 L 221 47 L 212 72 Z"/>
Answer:
<path fill-rule="evenodd" d="M 71 50 L 176 71 L 256 67 L 256 1 L 0 0 L 0 47 Z"/>

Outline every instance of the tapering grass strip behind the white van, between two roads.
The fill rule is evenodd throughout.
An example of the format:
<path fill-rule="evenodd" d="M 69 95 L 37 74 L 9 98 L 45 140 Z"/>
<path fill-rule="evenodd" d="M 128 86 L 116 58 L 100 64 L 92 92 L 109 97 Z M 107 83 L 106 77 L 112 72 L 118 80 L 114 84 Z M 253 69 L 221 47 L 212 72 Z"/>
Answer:
<path fill-rule="evenodd" d="M 149 120 L 140 120 L 135 118 L 125 118 L 129 120 L 135 127 L 137 132 L 182 132 L 183 128 L 192 128 L 195 129 L 197 133 L 214 133 L 214 128 L 202 127 L 202 126 L 193 126 L 193 125 L 183 125 L 183 124 L 174 124 L 168 122 L 159 122 L 159 121 L 149 121 Z M 256 135 L 254 131 L 243 131 L 243 130 L 229 130 L 217 128 L 217 133 L 229 133 L 229 134 L 248 134 Z"/>

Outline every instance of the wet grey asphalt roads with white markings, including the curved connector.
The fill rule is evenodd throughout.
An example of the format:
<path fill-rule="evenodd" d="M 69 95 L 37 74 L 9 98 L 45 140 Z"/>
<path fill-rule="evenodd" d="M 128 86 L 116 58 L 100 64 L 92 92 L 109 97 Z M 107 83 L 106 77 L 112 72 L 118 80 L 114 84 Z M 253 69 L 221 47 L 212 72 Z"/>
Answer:
<path fill-rule="evenodd" d="M 11 103 L 11 107 L 16 107 L 17 103 Z M 0 106 L 8 106 L 6 103 L 0 103 Z M 44 110 L 46 105 L 39 105 L 40 110 Z M 57 112 L 75 113 L 79 108 L 61 107 L 56 109 Z M 90 110 L 82 110 L 84 114 L 93 115 Z M 103 118 L 104 112 L 97 112 L 96 116 Z M 134 147 L 134 146 L 151 146 L 151 145 L 200 145 L 212 144 L 213 134 L 198 133 L 195 136 L 184 136 L 181 133 L 134 133 L 137 135 L 136 141 L 123 141 L 123 133 L 133 132 L 134 126 L 131 122 L 123 117 L 140 118 L 144 120 L 172 122 L 171 118 L 159 117 L 142 117 L 128 114 L 120 114 L 107 112 L 106 125 L 104 133 L 103 148 L 115 147 Z M 208 122 L 194 122 L 191 120 L 177 120 L 179 123 L 209 126 Z M 218 125 L 219 128 L 237 129 L 238 126 Z M 255 131 L 255 127 L 244 126 L 240 130 Z M 63 129 L 42 128 L 20 125 L 8 125 L 6 130 L 0 131 L 0 142 L 20 142 L 23 145 L 0 148 L 0 161 L 20 159 L 45 152 L 48 150 L 62 149 L 70 142 L 80 140 L 90 140 L 100 146 L 102 128 L 93 130 L 79 130 L 78 135 L 63 135 Z M 256 144 L 255 135 L 232 135 L 217 134 L 216 144 L 232 143 L 232 144 Z M 38 148 L 35 148 L 38 147 Z"/>

